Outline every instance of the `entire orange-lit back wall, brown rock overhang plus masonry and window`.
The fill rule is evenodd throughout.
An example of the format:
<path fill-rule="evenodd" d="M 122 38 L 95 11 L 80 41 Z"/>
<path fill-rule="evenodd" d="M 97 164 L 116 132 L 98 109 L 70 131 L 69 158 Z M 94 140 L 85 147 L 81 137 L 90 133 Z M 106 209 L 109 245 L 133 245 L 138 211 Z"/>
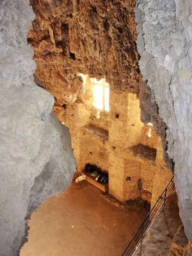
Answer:
<path fill-rule="evenodd" d="M 31 0 L 36 19 L 28 43 L 36 84 L 54 96 L 53 112 L 69 128 L 76 173 L 96 165 L 108 173 L 109 194 L 120 201 L 140 196 L 153 206 L 173 172 L 165 127 L 159 133 L 148 112 L 141 121 L 135 2 L 57 4 Z"/>

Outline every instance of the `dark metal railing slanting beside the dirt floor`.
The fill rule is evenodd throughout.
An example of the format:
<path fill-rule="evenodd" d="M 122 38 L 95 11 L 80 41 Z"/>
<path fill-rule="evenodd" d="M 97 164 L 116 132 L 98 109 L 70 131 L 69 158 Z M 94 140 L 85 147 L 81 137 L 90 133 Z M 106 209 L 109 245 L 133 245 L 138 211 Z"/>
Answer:
<path fill-rule="evenodd" d="M 140 226 L 139 230 L 136 232 L 136 234 L 132 238 L 132 241 L 123 252 L 122 256 L 125 256 L 125 255 L 133 256 L 136 253 L 137 249 L 142 244 L 144 237 L 149 232 L 151 226 L 155 222 L 159 213 L 165 207 L 165 204 L 168 201 L 168 198 L 170 197 L 170 195 L 173 193 L 174 189 L 175 189 L 174 179 L 172 178 L 168 183 L 167 187 L 165 188 L 165 190 L 163 191 L 163 193 L 159 196 L 154 207 L 148 213 L 143 224 Z"/>

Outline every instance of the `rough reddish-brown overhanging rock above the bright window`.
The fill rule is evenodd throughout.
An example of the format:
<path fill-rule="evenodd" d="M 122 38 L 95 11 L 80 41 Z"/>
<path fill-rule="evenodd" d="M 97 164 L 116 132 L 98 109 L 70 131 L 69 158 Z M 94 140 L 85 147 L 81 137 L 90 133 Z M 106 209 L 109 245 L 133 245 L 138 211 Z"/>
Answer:
<path fill-rule="evenodd" d="M 106 76 L 116 92 L 138 93 L 135 0 L 30 2 L 36 13 L 28 32 L 35 75 L 58 104 L 76 100 L 79 73 Z"/>

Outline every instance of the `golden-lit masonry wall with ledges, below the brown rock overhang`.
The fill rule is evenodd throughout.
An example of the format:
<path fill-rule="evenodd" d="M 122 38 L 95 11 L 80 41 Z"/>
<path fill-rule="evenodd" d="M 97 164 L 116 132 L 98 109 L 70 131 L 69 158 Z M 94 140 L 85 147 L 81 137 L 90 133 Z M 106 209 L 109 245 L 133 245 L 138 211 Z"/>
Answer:
<path fill-rule="evenodd" d="M 167 186 L 172 171 L 164 162 L 162 140 L 153 126 L 140 121 L 139 99 L 135 94 L 110 90 L 109 112 L 93 106 L 93 85 L 84 78 L 84 92 L 78 100 L 65 105 L 63 122 L 72 135 L 72 147 L 77 159 L 77 171 L 86 163 L 96 164 L 109 175 L 109 193 L 120 201 L 142 196 L 154 205 Z M 100 129 L 100 130 L 99 130 Z M 148 136 L 149 129 L 151 137 Z M 100 136 L 94 135 L 94 133 Z M 108 131 L 108 137 L 102 136 Z M 135 155 L 133 148 L 142 147 L 143 155 Z M 151 149 L 155 156 L 151 158 Z M 131 181 L 127 181 L 131 177 Z M 142 188 L 138 189 L 141 179 Z"/>

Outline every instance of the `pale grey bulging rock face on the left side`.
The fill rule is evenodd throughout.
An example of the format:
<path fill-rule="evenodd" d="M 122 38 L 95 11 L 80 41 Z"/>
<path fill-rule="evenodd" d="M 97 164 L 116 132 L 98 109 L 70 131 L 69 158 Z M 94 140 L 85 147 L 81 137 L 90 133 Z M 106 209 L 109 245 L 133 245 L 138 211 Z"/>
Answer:
<path fill-rule="evenodd" d="M 76 162 L 54 98 L 34 83 L 27 0 L 0 1 L 0 256 L 17 255 L 25 217 L 71 182 Z"/>

